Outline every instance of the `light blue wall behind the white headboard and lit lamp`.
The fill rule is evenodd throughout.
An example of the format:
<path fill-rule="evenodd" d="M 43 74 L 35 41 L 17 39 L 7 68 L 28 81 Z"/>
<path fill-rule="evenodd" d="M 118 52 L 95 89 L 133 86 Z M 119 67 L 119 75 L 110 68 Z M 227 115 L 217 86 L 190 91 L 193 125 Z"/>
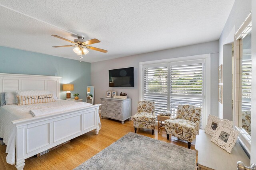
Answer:
<path fill-rule="evenodd" d="M 90 63 L 0 46 L 0 73 L 62 76 L 61 83 L 74 84 L 71 93 L 79 93 L 83 101 L 91 85 L 90 70 Z M 61 99 L 66 99 L 66 92 L 61 91 Z"/>

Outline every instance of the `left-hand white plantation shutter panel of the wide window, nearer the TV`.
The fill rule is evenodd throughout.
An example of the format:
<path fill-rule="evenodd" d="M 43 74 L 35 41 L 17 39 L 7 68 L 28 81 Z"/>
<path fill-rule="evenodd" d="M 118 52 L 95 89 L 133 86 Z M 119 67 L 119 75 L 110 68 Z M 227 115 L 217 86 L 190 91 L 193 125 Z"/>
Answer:
<path fill-rule="evenodd" d="M 143 70 L 144 100 L 155 102 L 155 113 L 166 112 L 168 98 L 168 66 L 149 66 Z"/>

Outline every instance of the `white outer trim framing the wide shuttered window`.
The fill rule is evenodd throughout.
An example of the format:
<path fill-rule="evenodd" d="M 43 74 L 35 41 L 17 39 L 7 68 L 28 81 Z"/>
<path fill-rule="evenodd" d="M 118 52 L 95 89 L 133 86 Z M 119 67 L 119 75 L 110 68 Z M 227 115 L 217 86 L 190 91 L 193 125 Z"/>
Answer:
<path fill-rule="evenodd" d="M 194 55 L 187 57 L 177 57 L 171 59 L 163 59 L 163 60 L 155 60 L 155 61 L 145 61 L 140 62 L 139 67 L 139 92 L 140 92 L 140 100 L 143 100 L 143 66 L 148 64 L 161 64 L 161 63 L 175 63 L 175 62 L 184 62 L 184 61 L 195 61 L 195 60 L 204 60 L 203 67 L 204 70 L 204 86 L 203 86 L 203 116 L 202 116 L 202 129 L 205 128 L 207 124 L 208 115 L 211 112 L 211 55 Z"/>

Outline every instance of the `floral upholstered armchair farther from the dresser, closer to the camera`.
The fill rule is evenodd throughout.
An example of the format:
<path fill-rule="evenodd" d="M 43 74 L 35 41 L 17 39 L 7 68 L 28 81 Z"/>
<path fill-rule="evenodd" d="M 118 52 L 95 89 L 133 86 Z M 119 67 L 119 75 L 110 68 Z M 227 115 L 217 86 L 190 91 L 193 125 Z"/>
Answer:
<path fill-rule="evenodd" d="M 178 137 L 187 141 L 188 149 L 190 149 L 191 142 L 199 134 L 201 110 L 201 107 L 179 105 L 176 117 L 164 121 L 167 140 L 169 140 L 170 135 Z"/>

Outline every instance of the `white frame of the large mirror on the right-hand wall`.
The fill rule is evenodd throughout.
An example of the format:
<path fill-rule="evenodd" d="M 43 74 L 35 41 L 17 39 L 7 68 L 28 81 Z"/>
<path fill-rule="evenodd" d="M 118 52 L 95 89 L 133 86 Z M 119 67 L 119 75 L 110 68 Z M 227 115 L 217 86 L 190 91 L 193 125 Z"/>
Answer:
<path fill-rule="evenodd" d="M 239 127 L 239 117 L 242 115 L 242 86 L 240 82 L 240 70 L 242 69 L 240 67 L 240 62 L 242 61 L 242 50 L 240 48 L 242 47 L 240 45 L 240 39 L 242 38 L 243 32 L 246 30 L 248 25 L 252 22 L 252 16 L 251 13 L 248 15 L 246 20 L 242 23 L 241 27 L 236 31 L 234 35 L 234 88 L 233 88 L 233 122 L 235 129 L 239 131 L 238 140 L 240 144 L 246 149 L 248 154 L 250 154 L 251 150 L 251 137 L 246 134 L 246 131 Z"/>

